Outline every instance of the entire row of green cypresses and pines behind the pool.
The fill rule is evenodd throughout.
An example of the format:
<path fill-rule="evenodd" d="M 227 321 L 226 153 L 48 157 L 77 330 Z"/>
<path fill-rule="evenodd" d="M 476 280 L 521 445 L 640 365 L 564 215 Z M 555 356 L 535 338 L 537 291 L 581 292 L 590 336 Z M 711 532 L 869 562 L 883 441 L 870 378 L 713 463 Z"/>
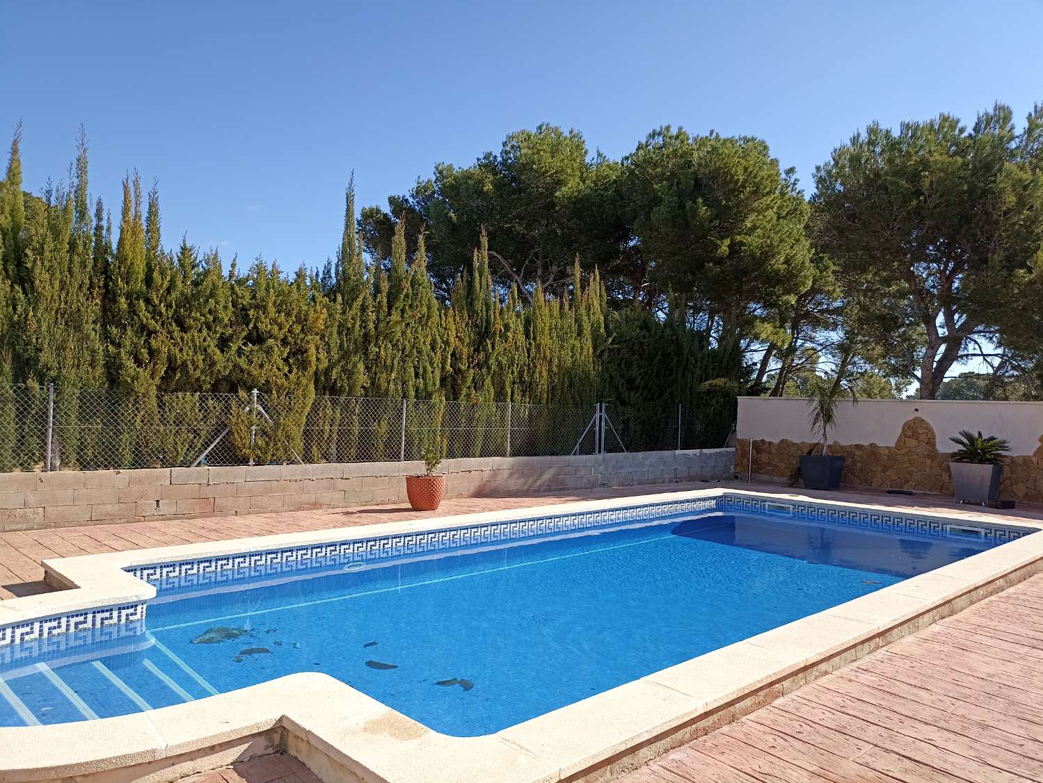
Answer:
<path fill-rule="evenodd" d="M 114 227 L 82 132 L 70 181 L 24 193 L 21 133 L 0 181 L 0 389 L 258 388 L 291 417 L 317 398 L 329 416 L 339 397 L 605 399 L 649 432 L 672 406 L 801 394 L 817 373 L 862 396 L 1043 389 L 1043 105 L 872 123 L 809 197 L 754 137 L 663 126 L 612 160 L 541 124 L 386 207 L 359 210 L 348 180 L 331 259 L 292 270 L 171 247 L 137 172 Z"/>

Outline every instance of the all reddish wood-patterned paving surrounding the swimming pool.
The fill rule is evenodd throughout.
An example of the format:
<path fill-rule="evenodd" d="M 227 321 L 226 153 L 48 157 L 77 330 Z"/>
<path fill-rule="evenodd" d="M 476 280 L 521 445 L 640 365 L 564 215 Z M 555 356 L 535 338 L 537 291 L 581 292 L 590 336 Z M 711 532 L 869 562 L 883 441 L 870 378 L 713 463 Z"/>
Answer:
<path fill-rule="evenodd" d="M 0 596 L 48 589 L 39 582 L 38 561 L 60 555 L 707 486 L 458 498 L 427 514 L 391 506 L 4 533 L 0 534 Z M 772 485 L 725 486 L 787 493 Z M 1041 509 L 992 512 L 957 508 L 929 496 L 803 490 L 801 494 L 954 516 L 1043 520 Z M 314 783 L 317 778 L 292 757 L 268 756 L 186 780 Z M 704 781 L 1043 781 L 1043 576 L 900 639 L 621 779 L 622 783 Z"/>

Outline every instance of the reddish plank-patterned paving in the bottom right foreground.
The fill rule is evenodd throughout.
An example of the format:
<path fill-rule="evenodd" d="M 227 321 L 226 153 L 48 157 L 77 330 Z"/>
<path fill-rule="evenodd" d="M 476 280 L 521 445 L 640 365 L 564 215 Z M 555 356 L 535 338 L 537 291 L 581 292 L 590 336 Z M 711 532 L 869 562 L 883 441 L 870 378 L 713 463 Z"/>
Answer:
<path fill-rule="evenodd" d="M 1043 780 L 1043 576 L 906 636 L 618 783 Z"/>

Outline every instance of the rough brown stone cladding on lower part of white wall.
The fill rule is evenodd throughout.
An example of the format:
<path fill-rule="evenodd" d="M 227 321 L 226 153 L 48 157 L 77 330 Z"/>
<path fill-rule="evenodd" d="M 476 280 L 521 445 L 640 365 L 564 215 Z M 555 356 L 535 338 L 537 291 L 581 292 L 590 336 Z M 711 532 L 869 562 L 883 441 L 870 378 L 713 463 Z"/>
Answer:
<path fill-rule="evenodd" d="M 922 492 L 952 492 L 949 455 L 938 449 L 935 429 L 920 416 L 902 424 L 893 445 L 876 443 L 830 443 L 829 454 L 843 455 L 844 485 Z M 1000 497 L 1021 503 L 1043 503 L 1043 436 L 1032 455 L 1008 458 L 1000 484 Z M 753 439 L 753 474 L 785 479 L 799 458 L 812 446 L 807 441 Z M 735 471 L 750 469 L 750 441 L 735 443 Z"/>

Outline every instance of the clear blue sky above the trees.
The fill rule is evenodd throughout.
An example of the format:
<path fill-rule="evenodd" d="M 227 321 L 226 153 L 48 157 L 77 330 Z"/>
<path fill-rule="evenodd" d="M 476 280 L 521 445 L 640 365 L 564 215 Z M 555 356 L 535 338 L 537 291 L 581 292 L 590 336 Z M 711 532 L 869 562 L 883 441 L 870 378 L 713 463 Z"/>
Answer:
<path fill-rule="evenodd" d="M 0 0 L 0 132 L 27 190 L 159 177 L 165 243 L 321 264 L 360 204 L 547 121 L 612 156 L 650 129 L 765 138 L 806 191 L 878 119 L 1043 100 L 1043 1 L 54 2 Z M 6 139 L 2 142 L 6 147 Z"/>

